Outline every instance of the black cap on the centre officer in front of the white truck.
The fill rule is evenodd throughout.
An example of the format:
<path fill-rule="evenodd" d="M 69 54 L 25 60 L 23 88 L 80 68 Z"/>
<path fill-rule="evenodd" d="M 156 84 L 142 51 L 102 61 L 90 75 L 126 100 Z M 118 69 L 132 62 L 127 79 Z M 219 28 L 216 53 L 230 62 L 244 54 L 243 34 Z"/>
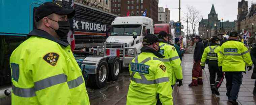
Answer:
<path fill-rule="evenodd" d="M 152 45 L 156 42 L 159 42 L 159 38 L 154 34 L 148 34 L 145 37 L 143 37 L 143 45 Z"/>

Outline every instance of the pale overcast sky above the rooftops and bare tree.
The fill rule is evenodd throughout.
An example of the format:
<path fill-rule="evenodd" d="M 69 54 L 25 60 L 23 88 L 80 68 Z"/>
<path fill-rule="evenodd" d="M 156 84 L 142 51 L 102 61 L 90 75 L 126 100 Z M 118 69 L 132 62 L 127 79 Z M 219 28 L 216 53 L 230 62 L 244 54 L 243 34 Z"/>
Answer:
<path fill-rule="evenodd" d="M 203 19 L 207 19 L 208 14 L 211 11 L 212 4 L 214 4 L 219 20 L 223 17 L 223 21 L 234 21 L 237 19 L 238 1 L 241 0 L 181 0 L 181 19 L 184 12 L 186 13 L 187 11 L 187 5 L 194 6 L 196 9 L 201 11 Z M 251 7 L 251 2 L 253 0 L 245 1 L 248 1 L 248 6 Z M 254 0 L 254 2 L 256 2 L 256 0 Z M 179 21 L 179 9 L 172 9 L 179 8 L 179 0 L 159 0 L 158 7 L 166 8 L 166 6 L 170 9 L 170 20 L 173 20 L 174 22 Z M 198 30 L 198 28 L 196 30 Z"/>

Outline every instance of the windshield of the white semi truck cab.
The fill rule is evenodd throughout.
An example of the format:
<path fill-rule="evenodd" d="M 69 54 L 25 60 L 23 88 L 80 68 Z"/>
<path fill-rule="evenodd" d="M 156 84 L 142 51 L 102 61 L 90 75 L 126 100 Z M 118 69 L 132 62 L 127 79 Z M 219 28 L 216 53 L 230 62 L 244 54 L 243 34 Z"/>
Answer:
<path fill-rule="evenodd" d="M 111 35 L 118 36 L 139 36 L 141 25 L 114 25 Z"/>

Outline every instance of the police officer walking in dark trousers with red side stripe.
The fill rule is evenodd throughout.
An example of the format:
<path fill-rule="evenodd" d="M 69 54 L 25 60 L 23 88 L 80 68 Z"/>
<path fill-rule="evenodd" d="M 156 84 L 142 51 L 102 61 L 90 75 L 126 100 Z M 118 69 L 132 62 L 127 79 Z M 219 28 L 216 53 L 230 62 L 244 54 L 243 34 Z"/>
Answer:
<path fill-rule="evenodd" d="M 206 59 L 209 61 L 208 66 L 210 72 L 210 85 L 212 94 L 220 95 L 218 88 L 220 87 L 224 78 L 224 73 L 219 70 L 218 66 L 218 53 L 220 51 L 220 41 L 219 38 L 217 37 L 213 37 L 211 41 L 211 45 L 204 48 L 200 65 L 202 69 L 204 69 Z M 216 73 L 217 80 L 215 81 Z"/>

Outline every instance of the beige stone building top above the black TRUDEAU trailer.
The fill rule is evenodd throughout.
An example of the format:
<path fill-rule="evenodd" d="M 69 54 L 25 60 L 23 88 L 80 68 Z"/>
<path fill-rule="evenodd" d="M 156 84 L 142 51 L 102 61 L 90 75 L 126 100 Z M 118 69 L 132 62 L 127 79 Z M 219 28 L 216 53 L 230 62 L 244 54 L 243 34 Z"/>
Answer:
<path fill-rule="evenodd" d="M 111 12 L 111 0 L 74 0 L 78 3 Z"/>

